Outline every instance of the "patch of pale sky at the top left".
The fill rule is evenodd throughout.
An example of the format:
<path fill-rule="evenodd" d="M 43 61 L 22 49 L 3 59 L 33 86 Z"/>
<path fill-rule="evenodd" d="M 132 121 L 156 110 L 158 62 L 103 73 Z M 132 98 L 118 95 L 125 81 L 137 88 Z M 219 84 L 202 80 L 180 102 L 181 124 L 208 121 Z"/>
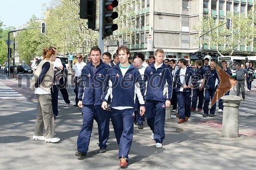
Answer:
<path fill-rule="evenodd" d="M 0 0 L 0 21 L 2 28 L 13 26 L 18 28 L 25 25 L 32 15 L 42 18 L 44 12 L 42 4 L 47 6 L 52 0 Z"/>

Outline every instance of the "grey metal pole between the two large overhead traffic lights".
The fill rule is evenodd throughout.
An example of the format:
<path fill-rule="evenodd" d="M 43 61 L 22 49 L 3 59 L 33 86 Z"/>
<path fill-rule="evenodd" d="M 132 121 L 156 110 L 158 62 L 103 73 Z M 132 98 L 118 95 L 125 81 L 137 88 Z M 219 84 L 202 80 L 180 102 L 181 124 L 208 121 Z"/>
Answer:
<path fill-rule="evenodd" d="M 104 53 L 104 41 L 103 41 L 103 7 L 104 7 L 104 0 L 99 0 L 99 48 L 101 50 L 101 53 Z"/>

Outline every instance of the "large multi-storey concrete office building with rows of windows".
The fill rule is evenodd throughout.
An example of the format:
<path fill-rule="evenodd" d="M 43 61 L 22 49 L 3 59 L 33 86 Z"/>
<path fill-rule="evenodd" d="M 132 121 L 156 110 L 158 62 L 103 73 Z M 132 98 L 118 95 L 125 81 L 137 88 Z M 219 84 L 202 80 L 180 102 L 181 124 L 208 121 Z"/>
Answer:
<path fill-rule="evenodd" d="M 247 13 L 255 0 L 120 0 L 118 6 L 118 31 L 114 39 L 127 40 L 132 56 L 142 52 L 146 58 L 163 48 L 165 58 L 196 60 L 193 55 L 199 48 L 199 36 L 194 29 L 199 18 L 211 12 L 223 19 L 228 12 Z M 122 34 L 131 28 L 131 34 Z M 202 37 L 204 38 L 204 37 Z M 252 46 L 240 45 L 240 51 L 253 51 Z M 203 52 L 217 54 L 201 44 Z M 193 58 L 194 56 L 194 58 Z"/>

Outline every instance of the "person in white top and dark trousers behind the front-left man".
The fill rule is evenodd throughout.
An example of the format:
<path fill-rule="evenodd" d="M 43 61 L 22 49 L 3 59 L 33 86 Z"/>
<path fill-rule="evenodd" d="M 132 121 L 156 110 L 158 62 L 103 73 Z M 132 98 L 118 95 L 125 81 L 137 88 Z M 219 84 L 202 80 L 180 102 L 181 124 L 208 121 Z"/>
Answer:
<path fill-rule="evenodd" d="M 78 107 L 78 85 L 77 85 L 77 78 L 79 76 L 81 76 L 81 72 L 82 72 L 82 68 L 86 65 L 85 62 L 83 62 L 82 60 L 82 55 L 78 54 L 76 56 L 77 62 L 75 63 L 74 67 L 73 67 L 73 71 L 72 71 L 72 75 L 71 75 L 71 83 L 75 83 L 75 89 L 74 92 L 76 93 L 76 104 L 74 106 Z M 75 79 L 74 79 L 75 77 Z"/>

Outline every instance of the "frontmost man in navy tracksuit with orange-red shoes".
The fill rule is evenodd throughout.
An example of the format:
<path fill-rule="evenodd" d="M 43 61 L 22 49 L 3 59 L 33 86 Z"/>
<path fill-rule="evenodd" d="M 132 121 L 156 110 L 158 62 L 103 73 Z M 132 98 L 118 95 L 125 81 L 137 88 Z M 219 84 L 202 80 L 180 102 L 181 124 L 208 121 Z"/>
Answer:
<path fill-rule="evenodd" d="M 142 116 L 145 112 L 144 89 L 140 82 L 141 75 L 138 68 L 129 63 L 129 49 L 119 46 L 117 53 L 120 63 L 112 66 L 109 70 L 109 75 L 104 82 L 101 107 L 107 108 L 106 101 L 111 93 L 111 121 L 119 145 L 119 165 L 127 167 L 134 130 L 135 93 L 140 103 L 139 114 Z"/>

